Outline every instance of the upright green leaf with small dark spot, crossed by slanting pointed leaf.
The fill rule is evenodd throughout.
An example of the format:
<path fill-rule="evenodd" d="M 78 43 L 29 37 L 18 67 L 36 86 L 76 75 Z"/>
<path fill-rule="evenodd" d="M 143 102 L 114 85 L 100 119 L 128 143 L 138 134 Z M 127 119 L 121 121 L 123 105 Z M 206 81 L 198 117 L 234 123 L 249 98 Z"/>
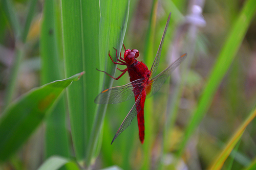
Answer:
<path fill-rule="evenodd" d="M 62 60 L 59 57 L 60 52 L 57 39 L 60 31 L 57 20 L 60 9 L 57 1 L 46 0 L 41 19 L 41 38 L 40 38 L 40 56 L 41 56 L 41 83 L 46 84 L 53 80 L 61 79 L 64 72 L 60 64 Z M 61 75 L 61 76 L 60 76 Z M 45 134 L 45 155 L 46 158 L 52 155 L 69 157 L 69 140 L 66 128 L 66 107 L 63 96 L 57 102 L 52 113 L 46 119 Z"/>

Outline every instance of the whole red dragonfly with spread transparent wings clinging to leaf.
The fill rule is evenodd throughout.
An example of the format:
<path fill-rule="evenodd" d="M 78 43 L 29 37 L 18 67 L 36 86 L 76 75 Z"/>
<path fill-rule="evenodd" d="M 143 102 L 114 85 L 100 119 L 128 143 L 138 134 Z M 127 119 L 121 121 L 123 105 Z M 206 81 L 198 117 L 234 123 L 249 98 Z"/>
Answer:
<path fill-rule="evenodd" d="M 116 58 L 119 62 L 114 62 L 112 57 L 109 57 L 112 60 L 114 64 L 119 65 L 126 65 L 127 67 L 125 69 L 119 69 L 122 72 L 120 76 L 117 78 L 112 77 L 108 73 L 104 72 L 106 75 L 112 77 L 115 80 L 118 80 L 120 77 L 122 77 L 126 71 L 128 71 L 130 76 L 131 83 L 125 84 L 123 86 L 117 86 L 117 87 L 111 87 L 108 89 L 103 90 L 101 93 L 98 94 L 98 96 L 95 99 L 95 103 L 97 104 L 115 104 L 115 103 L 121 103 L 127 100 L 130 100 L 135 97 L 135 104 L 133 105 L 130 112 L 126 115 L 125 119 L 123 120 L 120 128 L 117 130 L 117 133 L 115 137 L 113 138 L 111 144 L 113 141 L 117 138 L 120 133 L 122 133 L 132 122 L 133 118 L 137 115 L 138 119 L 138 126 L 139 126 L 139 138 L 141 143 L 144 143 L 144 103 L 146 97 L 149 98 L 152 96 L 155 92 L 157 92 L 165 80 L 169 77 L 171 72 L 180 65 L 180 63 L 186 58 L 187 53 L 183 54 L 179 59 L 177 59 L 174 63 L 172 63 L 170 66 L 168 66 L 165 70 L 163 70 L 159 75 L 152 78 L 157 71 L 157 67 L 160 60 L 160 55 L 162 51 L 162 45 L 164 41 L 164 37 L 169 25 L 170 21 L 170 14 L 166 22 L 166 26 L 163 32 L 163 36 L 157 51 L 157 55 L 155 57 L 154 63 L 151 67 L 151 70 L 148 70 L 147 66 L 142 63 L 141 61 L 138 61 L 136 58 L 139 57 L 139 51 L 136 49 L 130 50 L 125 49 L 124 45 L 124 55 L 123 58 L 121 57 L 120 53 L 120 59 L 118 59 L 117 50 L 116 50 Z M 98 70 L 98 69 L 97 69 Z M 101 71 L 101 70 L 99 70 Z"/>

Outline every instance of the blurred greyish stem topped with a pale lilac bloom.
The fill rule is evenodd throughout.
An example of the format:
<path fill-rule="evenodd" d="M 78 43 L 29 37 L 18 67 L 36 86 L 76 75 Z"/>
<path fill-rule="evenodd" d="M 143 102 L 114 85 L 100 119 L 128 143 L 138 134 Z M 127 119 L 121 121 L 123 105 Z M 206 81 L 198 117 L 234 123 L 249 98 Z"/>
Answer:
<path fill-rule="evenodd" d="M 202 16 L 204 1 L 190 1 L 188 7 L 189 14 L 184 17 L 183 23 L 181 23 L 181 25 L 177 28 L 173 45 L 170 47 L 170 49 L 172 50 L 172 52 L 170 52 L 170 58 L 172 58 L 172 61 L 175 61 L 177 57 L 185 52 L 187 53 L 188 57 L 181 65 L 180 70 L 174 70 L 172 81 L 170 81 L 170 84 L 174 84 L 174 89 L 172 90 L 172 88 L 169 88 L 169 96 L 167 100 L 168 107 L 166 110 L 165 128 L 162 144 L 163 158 L 160 158 L 162 160 L 168 152 L 168 134 L 169 132 L 174 132 L 174 126 L 180 108 L 180 100 L 183 92 L 183 87 L 187 79 L 190 63 L 194 58 L 198 28 L 204 27 L 206 25 L 206 22 Z M 184 39 L 183 37 L 186 37 L 186 39 Z M 163 165 L 162 163 L 163 161 L 161 161 L 161 166 Z"/>

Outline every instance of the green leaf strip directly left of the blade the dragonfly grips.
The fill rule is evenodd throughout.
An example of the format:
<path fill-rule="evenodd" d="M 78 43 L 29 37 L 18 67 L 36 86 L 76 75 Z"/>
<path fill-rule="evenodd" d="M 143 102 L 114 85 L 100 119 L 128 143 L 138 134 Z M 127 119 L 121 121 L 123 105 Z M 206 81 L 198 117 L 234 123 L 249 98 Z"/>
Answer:
<path fill-rule="evenodd" d="M 84 75 L 84 113 L 86 113 L 86 143 L 89 143 L 89 136 L 92 131 L 93 120 L 97 105 L 94 99 L 98 94 L 99 74 L 96 70 L 99 67 L 99 1 L 85 1 L 82 6 L 82 43 L 83 43 L 83 70 Z M 87 146 L 87 145 L 86 145 Z M 99 149 L 100 150 L 100 149 Z M 84 151 L 83 151 L 84 152 Z"/>

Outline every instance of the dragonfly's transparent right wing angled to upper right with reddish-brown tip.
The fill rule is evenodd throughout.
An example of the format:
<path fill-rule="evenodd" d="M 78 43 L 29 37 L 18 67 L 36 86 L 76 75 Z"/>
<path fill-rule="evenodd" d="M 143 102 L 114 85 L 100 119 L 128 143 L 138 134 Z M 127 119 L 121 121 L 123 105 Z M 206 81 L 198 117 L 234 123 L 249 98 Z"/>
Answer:
<path fill-rule="evenodd" d="M 180 58 L 178 58 L 165 70 L 160 72 L 159 75 L 151 79 L 151 83 L 149 84 L 149 86 L 151 86 L 151 91 L 146 95 L 147 98 L 150 98 L 162 87 L 166 79 L 170 76 L 170 74 L 175 70 L 175 68 L 177 68 L 186 57 L 187 57 L 187 53 L 183 54 Z"/>

